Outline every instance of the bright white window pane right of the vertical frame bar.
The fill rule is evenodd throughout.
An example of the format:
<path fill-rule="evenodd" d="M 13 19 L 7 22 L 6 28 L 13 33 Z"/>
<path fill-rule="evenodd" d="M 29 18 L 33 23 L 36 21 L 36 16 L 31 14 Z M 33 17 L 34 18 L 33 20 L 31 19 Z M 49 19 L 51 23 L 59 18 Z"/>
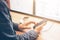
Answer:
<path fill-rule="evenodd" d="M 60 21 L 60 0 L 35 0 L 36 15 Z"/>

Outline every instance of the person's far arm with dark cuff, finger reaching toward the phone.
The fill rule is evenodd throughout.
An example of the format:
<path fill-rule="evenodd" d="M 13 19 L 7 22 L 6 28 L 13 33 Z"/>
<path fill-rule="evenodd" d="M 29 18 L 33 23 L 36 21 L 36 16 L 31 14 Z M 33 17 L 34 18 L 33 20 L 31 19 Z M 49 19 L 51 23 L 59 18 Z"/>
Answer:
<path fill-rule="evenodd" d="M 28 22 L 26 24 L 17 24 L 17 23 L 13 23 L 13 28 L 14 30 L 19 31 L 20 29 L 30 29 L 31 27 L 28 27 L 29 24 L 34 23 L 34 22 Z M 35 24 L 35 23 L 34 23 Z"/>

